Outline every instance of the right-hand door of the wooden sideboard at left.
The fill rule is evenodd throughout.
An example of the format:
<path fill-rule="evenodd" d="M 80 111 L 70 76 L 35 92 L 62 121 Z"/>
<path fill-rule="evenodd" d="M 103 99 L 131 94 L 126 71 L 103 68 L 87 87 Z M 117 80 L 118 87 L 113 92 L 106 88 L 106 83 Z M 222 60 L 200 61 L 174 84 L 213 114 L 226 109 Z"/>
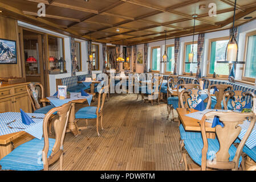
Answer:
<path fill-rule="evenodd" d="M 25 113 L 31 113 L 31 105 L 27 94 L 14 96 L 14 112 L 19 112 L 22 109 Z"/>

